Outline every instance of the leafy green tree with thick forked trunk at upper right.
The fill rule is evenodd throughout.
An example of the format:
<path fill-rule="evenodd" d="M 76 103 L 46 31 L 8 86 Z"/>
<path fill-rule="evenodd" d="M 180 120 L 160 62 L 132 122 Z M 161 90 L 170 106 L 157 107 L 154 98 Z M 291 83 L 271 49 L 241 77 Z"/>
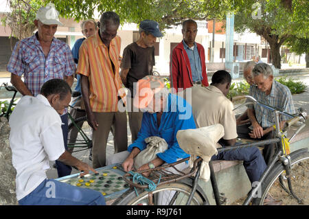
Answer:
<path fill-rule="evenodd" d="M 235 16 L 235 30 L 250 30 L 265 38 L 271 47 L 273 65 L 281 68 L 280 47 L 290 36 L 308 35 L 308 0 L 248 0 Z"/>

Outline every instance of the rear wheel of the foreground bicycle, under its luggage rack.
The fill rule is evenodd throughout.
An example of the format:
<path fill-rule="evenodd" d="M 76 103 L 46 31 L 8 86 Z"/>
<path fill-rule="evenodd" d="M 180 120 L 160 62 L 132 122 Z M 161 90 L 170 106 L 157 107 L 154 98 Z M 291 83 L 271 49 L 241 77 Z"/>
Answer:
<path fill-rule="evenodd" d="M 186 205 L 187 199 L 190 195 L 190 192 L 192 190 L 192 178 L 188 179 L 185 178 L 184 180 L 181 180 L 176 183 L 168 183 L 159 185 L 155 191 L 152 192 L 154 194 L 154 200 L 155 205 L 171 205 L 172 197 L 169 196 L 167 198 L 167 201 L 169 203 L 158 203 L 159 198 L 156 198 L 158 196 L 159 192 L 165 192 L 165 195 L 168 194 L 168 191 L 170 193 L 173 191 L 172 194 L 174 196 L 175 191 L 179 192 L 178 197 L 174 197 L 174 203 L 173 205 Z M 138 194 L 138 196 L 137 196 Z M 161 199 L 163 200 L 163 198 Z M 148 202 L 148 192 L 144 191 L 143 189 L 137 189 L 135 191 L 134 188 L 128 189 L 122 196 L 119 196 L 113 203 L 113 205 L 147 205 Z M 208 198 L 203 192 L 203 189 L 201 187 L 196 187 L 196 192 L 194 193 L 194 198 L 192 198 L 191 205 L 209 205 Z"/>

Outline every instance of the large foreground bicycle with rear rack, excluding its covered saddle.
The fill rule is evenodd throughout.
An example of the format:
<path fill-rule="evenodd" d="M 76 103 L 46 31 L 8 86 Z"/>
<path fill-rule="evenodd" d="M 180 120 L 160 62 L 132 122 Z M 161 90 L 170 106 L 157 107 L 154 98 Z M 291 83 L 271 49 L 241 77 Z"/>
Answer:
<path fill-rule="evenodd" d="M 256 185 L 256 187 L 253 187 L 249 192 L 246 200 L 244 200 L 243 205 L 263 205 L 266 196 L 271 193 L 271 188 L 277 181 L 279 182 L 279 185 L 282 187 L 284 192 L 288 193 L 291 197 L 295 198 L 299 204 L 301 204 L 303 200 L 299 197 L 304 197 L 304 194 L 301 194 L 301 192 L 299 192 L 298 190 L 295 191 L 295 183 L 299 183 L 299 180 L 297 181 L 297 176 L 294 176 L 295 174 L 297 174 L 297 172 L 295 172 L 295 169 L 293 168 L 296 168 L 301 163 L 303 163 L 302 165 L 306 168 L 306 163 L 304 164 L 304 162 L 308 163 L 308 148 L 301 148 L 299 150 L 296 150 L 295 152 L 288 154 L 286 151 L 286 144 L 288 143 L 288 141 L 285 140 L 286 136 L 283 133 L 286 132 L 291 126 L 295 124 L 301 124 L 301 126 L 299 126 L 299 128 L 295 131 L 293 137 L 290 138 L 290 140 L 292 140 L 295 135 L 297 135 L 299 131 L 306 125 L 305 120 L 308 119 L 306 111 L 299 110 L 298 115 L 290 115 L 288 113 L 279 111 L 277 108 L 273 108 L 272 106 L 268 106 L 266 104 L 258 102 L 249 95 L 242 96 L 242 98 L 243 97 L 251 99 L 252 102 L 246 102 L 241 106 L 247 104 L 260 104 L 261 106 L 264 106 L 269 110 L 273 111 L 275 115 L 276 135 L 273 139 L 261 140 L 253 143 L 242 143 L 237 146 L 229 146 L 225 148 L 218 148 L 218 152 L 253 146 L 264 146 L 265 144 L 269 143 L 277 144 L 277 152 L 275 156 L 262 174 L 258 185 Z M 280 114 L 287 115 L 291 118 L 286 121 L 283 132 L 279 128 Z M 201 154 L 201 156 L 202 155 L 203 154 Z M 205 195 L 205 192 L 203 192 L 203 189 L 201 189 L 201 187 L 198 185 L 199 173 L 201 171 L 201 158 L 198 158 L 196 159 L 196 161 L 194 161 L 194 166 L 189 173 L 179 171 L 174 167 L 176 164 L 185 161 L 187 161 L 187 159 L 183 159 L 181 161 L 171 163 L 166 166 L 157 167 L 155 169 L 148 169 L 137 172 L 136 174 L 151 172 L 149 178 L 147 179 L 154 183 L 154 185 L 157 185 L 157 187 L 150 191 L 146 190 L 149 189 L 149 185 L 147 185 L 147 183 L 146 185 L 141 185 L 140 182 L 135 183 L 133 182 L 132 173 L 126 173 L 123 178 L 127 183 L 131 185 L 131 187 L 130 189 L 128 189 L 128 191 L 122 194 L 122 196 L 119 196 L 119 198 L 115 200 L 113 205 L 209 205 L 209 201 L 207 196 Z M 166 168 L 174 168 L 176 170 L 176 174 L 166 171 Z M 214 174 L 214 168 L 212 167 L 211 162 L 209 162 L 209 168 L 210 181 L 213 188 L 216 205 L 222 205 L 218 184 L 216 182 L 216 177 Z M 306 171 L 304 172 L 304 175 L 308 178 L 308 174 L 306 174 Z M 294 180 L 292 180 L 292 178 L 294 178 Z M 299 187 L 296 188 L 299 189 Z M 168 201 L 167 203 L 158 203 L 158 196 L 160 192 L 165 192 L 166 195 L 170 194 L 170 196 L 165 199 Z"/>

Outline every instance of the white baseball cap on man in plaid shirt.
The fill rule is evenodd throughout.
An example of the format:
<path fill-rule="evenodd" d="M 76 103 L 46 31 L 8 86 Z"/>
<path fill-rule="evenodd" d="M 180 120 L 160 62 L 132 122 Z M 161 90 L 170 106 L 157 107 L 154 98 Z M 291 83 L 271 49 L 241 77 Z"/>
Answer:
<path fill-rule="evenodd" d="M 45 7 L 42 7 L 36 12 L 36 19 L 41 21 L 46 25 L 61 25 L 63 24 L 59 21 L 59 12 L 56 10 L 53 3 L 48 3 Z"/>

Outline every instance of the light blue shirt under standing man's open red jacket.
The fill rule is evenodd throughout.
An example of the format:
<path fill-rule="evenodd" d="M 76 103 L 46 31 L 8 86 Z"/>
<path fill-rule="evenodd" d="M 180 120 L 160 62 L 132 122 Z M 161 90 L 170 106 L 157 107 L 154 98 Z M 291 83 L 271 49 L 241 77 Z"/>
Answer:
<path fill-rule="evenodd" d="M 183 40 L 183 47 L 185 48 L 185 51 L 187 52 L 187 57 L 190 60 L 192 80 L 194 82 L 203 80 L 201 58 L 198 54 L 196 43 L 194 43 L 193 48 L 190 48 Z"/>

